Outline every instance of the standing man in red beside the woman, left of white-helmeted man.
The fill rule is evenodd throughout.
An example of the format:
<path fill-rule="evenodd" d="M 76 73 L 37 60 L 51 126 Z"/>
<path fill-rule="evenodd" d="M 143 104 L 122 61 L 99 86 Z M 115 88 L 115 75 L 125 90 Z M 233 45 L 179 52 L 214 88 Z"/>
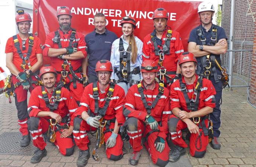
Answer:
<path fill-rule="evenodd" d="M 158 8 L 153 13 L 154 31 L 145 36 L 142 59 L 151 59 L 158 64 L 158 78 L 169 89 L 181 77 L 177 65 L 178 57 L 184 52 L 180 33 L 167 26 L 168 12 Z"/>

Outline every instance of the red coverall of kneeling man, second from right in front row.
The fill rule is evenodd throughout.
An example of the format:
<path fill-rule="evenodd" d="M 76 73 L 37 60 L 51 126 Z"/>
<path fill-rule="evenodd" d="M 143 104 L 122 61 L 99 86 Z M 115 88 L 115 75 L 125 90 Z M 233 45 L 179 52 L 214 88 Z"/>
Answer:
<path fill-rule="evenodd" d="M 142 81 L 143 82 L 143 81 Z M 143 84 L 142 84 L 143 87 Z M 144 87 L 143 87 L 144 88 Z M 154 102 L 158 94 L 159 84 L 155 85 L 153 90 L 144 89 L 146 101 Z M 133 85 L 125 97 L 126 103 L 123 109 L 123 115 L 128 117 L 125 121 L 124 126 L 126 127 L 127 133 L 130 136 L 130 144 L 133 146 L 134 151 L 142 149 L 141 140 L 145 137 L 148 132 L 152 131 L 149 125 L 145 125 L 145 117 L 148 115 L 146 108 L 141 100 L 140 93 L 138 91 L 137 84 Z M 157 120 L 158 124 L 162 121 L 162 126 L 158 125 L 160 132 L 152 132 L 145 142 L 146 149 L 149 151 L 151 159 L 154 164 L 163 163 L 168 164 L 169 162 L 169 146 L 166 141 L 168 135 L 168 117 L 171 114 L 169 105 L 169 90 L 164 88 L 164 93 L 160 97 L 154 108 L 151 109 L 151 116 Z M 154 143 L 157 137 L 165 139 L 165 149 L 162 153 L 155 149 Z M 164 166 L 161 164 L 160 166 Z"/>

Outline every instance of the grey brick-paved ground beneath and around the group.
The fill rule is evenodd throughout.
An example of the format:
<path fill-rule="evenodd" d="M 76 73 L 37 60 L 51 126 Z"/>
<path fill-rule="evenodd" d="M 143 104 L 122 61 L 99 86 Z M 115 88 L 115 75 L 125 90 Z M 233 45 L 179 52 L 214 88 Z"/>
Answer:
<path fill-rule="evenodd" d="M 0 97 L 0 135 L 4 132 L 18 132 L 17 114 L 12 98 L 12 104 L 8 99 Z M 204 158 L 193 158 L 186 149 L 187 154 L 178 162 L 169 162 L 168 166 L 200 166 L 200 167 L 256 167 L 256 110 L 247 103 L 246 88 L 233 88 L 232 91 L 223 92 L 221 124 L 221 149 L 214 150 L 207 147 Z M 91 148 L 94 147 L 94 139 L 91 138 Z M 0 146 L 1 146 L 0 141 Z M 126 143 L 126 147 L 127 143 Z M 58 149 L 47 143 L 47 156 L 38 164 L 31 164 L 28 155 L 0 154 L 0 166 L 76 166 L 78 149 L 76 147 L 72 156 L 62 156 Z M 106 158 L 104 148 L 99 149 L 100 161 L 89 159 L 88 167 L 115 167 L 128 165 L 131 153 L 124 155 L 120 161 L 110 161 Z M 132 150 L 130 150 L 132 152 Z M 145 149 L 137 166 L 155 166 Z"/>

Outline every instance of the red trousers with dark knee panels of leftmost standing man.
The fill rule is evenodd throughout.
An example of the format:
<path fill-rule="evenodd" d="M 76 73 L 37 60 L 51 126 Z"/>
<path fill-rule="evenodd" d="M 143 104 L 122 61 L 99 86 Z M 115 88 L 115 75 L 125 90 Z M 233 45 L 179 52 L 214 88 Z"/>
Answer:
<path fill-rule="evenodd" d="M 36 78 L 32 76 L 32 80 L 36 81 Z M 15 75 L 12 75 L 12 83 L 16 84 L 18 79 Z M 32 87 L 35 88 L 37 85 L 32 84 Z M 32 91 L 32 87 L 30 87 L 29 92 Z M 27 120 L 29 119 L 29 113 L 27 113 L 27 90 L 23 89 L 23 86 L 20 85 L 15 88 L 15 105 L 17 108 L 18 115 L 18 124 L 20 125 L 20 132 L 22 135 L 28 135 L 29 132 L 27 130 Z"/>

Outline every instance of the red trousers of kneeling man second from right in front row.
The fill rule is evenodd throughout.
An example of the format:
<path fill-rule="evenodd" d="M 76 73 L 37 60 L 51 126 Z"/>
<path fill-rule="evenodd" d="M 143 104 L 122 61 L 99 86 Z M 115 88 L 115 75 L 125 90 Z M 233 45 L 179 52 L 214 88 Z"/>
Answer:
<path fill-rule="evenodd" d="M 141 139 L 142 137 L 145 137 L 148 132 L 151 131 L 150 126 L 147 125 L 145 127 L 144 123 L 135 118 L 135 117 L 130 117 L 125 121 L 124 126 L 126 127 L 127 134 L 130 137 L 130 144 L 133 146 L 134 151 L 139 151 L 142 149 L 141 145 Z M 157 138 L 158 132 L 153 132 L 151 135 L 149 135 L 148 140 L 145 142 L 146 149 L 148 150 L 151 159 L 154 164 L 167 164 L 169 161 L 169 146 L 168 143 L 165 139 L 165 149 L 163 150 L 162 153 L 158 152 L 155 149 L 154 142 L 155 139 Z"/>

